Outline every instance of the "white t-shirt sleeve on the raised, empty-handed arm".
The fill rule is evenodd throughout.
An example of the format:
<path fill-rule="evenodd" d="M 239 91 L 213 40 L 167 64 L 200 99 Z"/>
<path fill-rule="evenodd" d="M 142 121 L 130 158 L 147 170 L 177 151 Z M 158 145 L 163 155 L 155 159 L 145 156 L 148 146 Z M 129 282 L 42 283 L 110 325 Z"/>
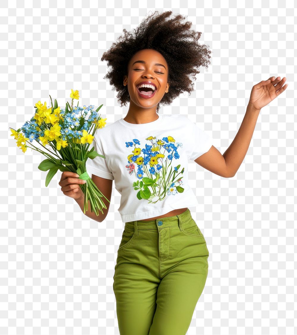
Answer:
<path fill-rule="evenodd" d="M 213 138 L 210 134 L 206 133 L 195 123 L 192 124 L 192 153 L 189 156 L 189 159 L 195 160 L 199 156 L 206 153 L 213 143 Z"/>

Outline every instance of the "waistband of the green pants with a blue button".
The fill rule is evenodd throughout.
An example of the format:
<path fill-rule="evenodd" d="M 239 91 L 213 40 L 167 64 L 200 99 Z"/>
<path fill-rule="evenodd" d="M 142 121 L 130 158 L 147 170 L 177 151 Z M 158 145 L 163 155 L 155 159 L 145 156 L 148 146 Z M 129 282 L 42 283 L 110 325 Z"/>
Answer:
<path fill-rule="evenodd" d="M 150 220 L 150 221 L 128 221 L 125 222 L 125 227 L 130 229 L 140 229 L 140 230 L 147 230 L 147 229 L 160 229 L 166 227 L 174 227 L 177 225 L 181 225 L 183 222 L 192 218 L 190 209 L 187 208 L 183 213 L 178 215 L 172 215 L 167 217 L 161 217 L 160 219 Z"/>

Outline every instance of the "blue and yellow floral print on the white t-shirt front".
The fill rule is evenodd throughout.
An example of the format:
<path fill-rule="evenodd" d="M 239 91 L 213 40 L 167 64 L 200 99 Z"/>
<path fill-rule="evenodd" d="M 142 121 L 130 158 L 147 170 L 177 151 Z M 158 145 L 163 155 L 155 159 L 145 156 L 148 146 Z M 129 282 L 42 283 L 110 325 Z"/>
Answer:
<path fill-rule="evenodd" d="M 178 159 L 177 149 L 182 148 L 182 143 L 175 143 L 172 136 L 157 140 L 156 137 L 146 138 L 149 144 L 141 149 L 140 141 L 133 139 L 126 142 L 126 147 L 133 147 L 132 154 L 128 155 L 126 168 L 129 175 L 135 175 L 138 180 L 133 182 L 132 187 L 138 191 L 136 196 L 139 200 L 147 199 L 148 203 L 156 203 L 183 192 L 182 175 L 184 167 L 180 172 L 180 164 L 173 166 L 172 159 Z M 168 154 L 167 154 L 168 153 Z M 142 156 L 143 155 L 143 156 Z M 169 170 L 170 169 L 170 170 Z"/>

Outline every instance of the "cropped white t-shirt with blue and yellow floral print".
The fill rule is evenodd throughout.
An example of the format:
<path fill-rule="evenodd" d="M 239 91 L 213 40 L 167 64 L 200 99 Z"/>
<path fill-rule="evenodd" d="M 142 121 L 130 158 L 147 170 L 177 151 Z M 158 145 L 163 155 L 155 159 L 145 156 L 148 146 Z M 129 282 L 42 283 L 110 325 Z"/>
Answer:
<path fill-rule="evenodd" d="M 92 146 L 106 158 L 88 158 L 87 172 L 115 181 L 124 223 L 198 205 L 188 185 L 188 159 L 207 152 L 212 138 L 186 116 L 159 115 L 143 124 L 122 118 L 98 129 Z"/>

